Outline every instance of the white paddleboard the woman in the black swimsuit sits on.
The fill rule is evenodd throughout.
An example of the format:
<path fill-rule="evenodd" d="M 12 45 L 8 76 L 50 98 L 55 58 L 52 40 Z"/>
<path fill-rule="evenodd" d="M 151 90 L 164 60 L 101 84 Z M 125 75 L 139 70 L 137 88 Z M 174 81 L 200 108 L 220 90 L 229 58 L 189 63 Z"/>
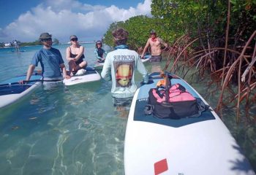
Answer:
<path fill-rule="evenodd" d="M 94 68 L 86 67 L 86 73 L 83 75 L 74 75 L 70 79 L 64 79 L 64 85 L 77 85 L 86 82 L 95 82 L 101 79 L 99 73 Z"/>

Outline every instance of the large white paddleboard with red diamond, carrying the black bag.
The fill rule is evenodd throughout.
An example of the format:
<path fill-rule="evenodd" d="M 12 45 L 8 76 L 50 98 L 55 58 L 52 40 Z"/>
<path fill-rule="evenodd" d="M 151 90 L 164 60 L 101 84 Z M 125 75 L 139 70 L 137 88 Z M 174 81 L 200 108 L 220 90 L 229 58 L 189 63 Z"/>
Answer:
<path fill-rule="evenodd" d="M 132 100 L 124 142 L 126 175 L 228 175 L 255 174 L 241 148 L 218 115 L 210 108 L 200 117 L 180 120 L 145 115 L 148 90 L 156 88 L 160 78 L 140 87 Z M 206 101 L 183 79 L 180 83 L 192 96 Z"/>

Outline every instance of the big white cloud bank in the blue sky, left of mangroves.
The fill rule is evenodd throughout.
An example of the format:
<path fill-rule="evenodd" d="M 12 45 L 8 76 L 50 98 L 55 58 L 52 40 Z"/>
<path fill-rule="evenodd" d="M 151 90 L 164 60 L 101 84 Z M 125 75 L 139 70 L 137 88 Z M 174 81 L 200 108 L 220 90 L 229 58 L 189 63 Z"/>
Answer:
<path fill-rule="evenodd" d="M 77 35 L 80 41 L 92 41 L 102 37 L 110 23 L 127 20 L 136 15 L 150 15 L 151 0 L 137 7 L 119 9 L 91 6 L 75 0 L 47 0 L 20 15 L 5 28 L 0 28 L 0 41 L 18 39 L 33 42 L 42 32 L 53 34 L 53 38 L 67 42 L 69 36 Z"/>

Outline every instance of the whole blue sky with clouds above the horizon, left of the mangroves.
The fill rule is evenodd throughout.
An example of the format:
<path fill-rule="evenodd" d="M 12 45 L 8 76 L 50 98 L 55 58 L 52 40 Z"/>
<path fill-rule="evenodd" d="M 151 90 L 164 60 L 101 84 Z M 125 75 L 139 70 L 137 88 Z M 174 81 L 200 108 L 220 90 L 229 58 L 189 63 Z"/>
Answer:
<path fill-rule="evenodd" d="M 99 40 L 111 23 L 151 16 L 151 0 L 0 0 L 0 42 L 34 42 L 43 32 L 69 42 Z"/>

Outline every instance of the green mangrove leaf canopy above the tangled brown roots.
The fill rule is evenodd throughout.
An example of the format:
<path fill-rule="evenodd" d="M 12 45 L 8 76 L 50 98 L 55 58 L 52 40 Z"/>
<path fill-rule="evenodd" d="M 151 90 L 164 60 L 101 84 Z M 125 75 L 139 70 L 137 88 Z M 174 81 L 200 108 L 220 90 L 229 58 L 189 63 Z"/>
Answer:
<path fill-rule="evenodd" d="M 230 0 L 230 3 L 229 36 L 238 37 L 240 34 L 246 40 L 255 30 L 256 1 Z M 200 41 L 207 46 L 218 40 L 225 41 L 227 1 L 152 0 L 151 14 L 153 18 L 140 15 L 124 22 L 112 23 L 104 42 L 114 46 L 112 31 L 118 27 L 129 31 L 128 44 L 134 49 L 144 47 L 148 31 L 153 28 L 158 36 L 170 44 L 184 34 L 192 38 L 200 37 Z"/>

